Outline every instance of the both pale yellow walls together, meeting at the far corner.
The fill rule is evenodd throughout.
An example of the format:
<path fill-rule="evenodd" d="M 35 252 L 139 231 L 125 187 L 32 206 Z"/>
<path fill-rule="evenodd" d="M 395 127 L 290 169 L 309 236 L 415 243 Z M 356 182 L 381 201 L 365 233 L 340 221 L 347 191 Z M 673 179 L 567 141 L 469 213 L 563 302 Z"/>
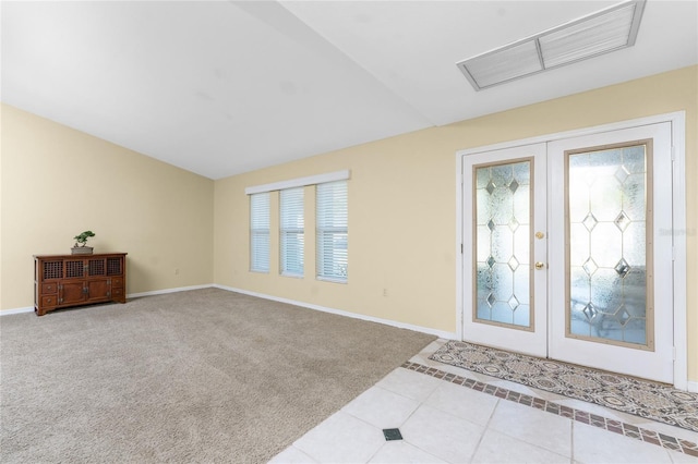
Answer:
<path fill-rule="evenodd" d="M 698 66 L 216 182 L 1 109 L 0 309 L 32 306 L 33 254 L 68 253 L 92 229 L 97 252 L 129 253 L 130 294 L 215 282 L 444 332 L 456 331 L 457 150 L 684 110 L 688 377 L 698 381 Z M 349 283 L 313 278 L 312 215 L 304 279 L 278 276 L 275 234 L 272 272 L 249 272 L 244 188 L 340 169 L 351 170 Z M 312 197 L 308 188 L 309 208 Z"/>

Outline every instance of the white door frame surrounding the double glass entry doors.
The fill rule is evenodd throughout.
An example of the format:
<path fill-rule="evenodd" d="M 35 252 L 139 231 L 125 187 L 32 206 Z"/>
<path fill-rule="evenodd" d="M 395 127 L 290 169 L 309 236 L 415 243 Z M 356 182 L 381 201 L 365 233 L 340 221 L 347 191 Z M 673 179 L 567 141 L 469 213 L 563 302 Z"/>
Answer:
<path fill-rule="evenodd" d="M 513 148 L 521 145 L 555 142 L 564 138 L 593 135 L 623 129 L 637 127 L 648 124 L 670 122 L 672 125 L 672 203 L 674 208 L 672 234 L 674 249 L 674 387 L 679 390 L 688 388 L 688 349 L 686 332 L 686 113 L 677 111 L 657 114 L 648 118 L 621 121 L 611 124 L 583 127 L 566 132 L 558 132 L 526 139 L 505 142 L 501 144 L 468 148 L 456 151 L 456 337 L 464 340 L 464 266 L 470 266 L 469 251 L 464 249 L 464 156 L 482 151 Z M 468 256 L 466 261 L 465 257 Z M 549 290 L 550 292 L 550 290 Z M 547 295 L 550 298 L 550 294 Z M 470 313 L 469 313 L 470 314 Z"/>

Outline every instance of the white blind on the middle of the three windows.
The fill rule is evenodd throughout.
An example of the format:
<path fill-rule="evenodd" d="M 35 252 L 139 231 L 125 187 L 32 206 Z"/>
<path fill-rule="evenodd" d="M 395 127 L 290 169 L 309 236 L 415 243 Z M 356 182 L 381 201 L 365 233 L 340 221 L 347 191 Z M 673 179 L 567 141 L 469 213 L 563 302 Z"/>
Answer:
<path fill-rule="evenodd" d="M 303 187 L 279 192 L 281 274 L 303 276 Z"/>

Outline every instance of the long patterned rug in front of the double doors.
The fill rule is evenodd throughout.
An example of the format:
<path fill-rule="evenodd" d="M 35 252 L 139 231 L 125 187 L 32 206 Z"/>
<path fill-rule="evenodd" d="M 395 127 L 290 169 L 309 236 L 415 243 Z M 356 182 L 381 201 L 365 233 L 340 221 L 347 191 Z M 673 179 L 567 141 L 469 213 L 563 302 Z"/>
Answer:
<path fill-rule="evenodd" d="M 449 341 L 431 359 L 698 431 L 698 393 L 552 359 Z"/>

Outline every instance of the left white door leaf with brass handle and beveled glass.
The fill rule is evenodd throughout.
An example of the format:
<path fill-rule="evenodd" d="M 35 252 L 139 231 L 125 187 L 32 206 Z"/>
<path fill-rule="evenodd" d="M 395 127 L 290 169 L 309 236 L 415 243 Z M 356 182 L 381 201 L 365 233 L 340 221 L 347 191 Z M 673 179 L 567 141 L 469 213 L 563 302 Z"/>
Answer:
<path fill-rule="evenodd" d="M 545 144 L 464 157 L 466 340 L 547 354 L 545 166 Z"/>

